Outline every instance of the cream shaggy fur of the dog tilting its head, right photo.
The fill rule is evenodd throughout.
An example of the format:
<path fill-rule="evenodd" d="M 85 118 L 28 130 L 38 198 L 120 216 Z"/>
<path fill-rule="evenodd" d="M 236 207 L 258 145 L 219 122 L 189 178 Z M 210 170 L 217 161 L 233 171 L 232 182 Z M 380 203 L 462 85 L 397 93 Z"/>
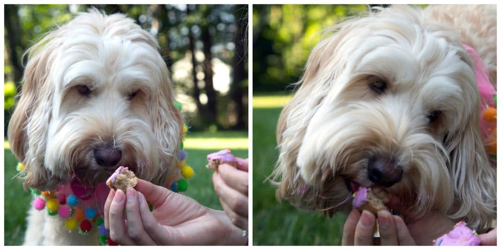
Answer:
<path fill-rule="evenodd" d="M 386 189 L 416 216 L 436 210 L 482 232 L 495 217 L 496 180 L 462 43 L 478 51 L 495 86 L 495 7 L 379 10 L 334 27 L 311 52 L 277 127 L 277 196 L 348 211 L 346 183 L 374 186 L 367 162 L 385 155 L 403 170 Z M 371 87 L 374 77 L 384 92 Z M 439 117 L 430 122 L 432 111 Z"/>

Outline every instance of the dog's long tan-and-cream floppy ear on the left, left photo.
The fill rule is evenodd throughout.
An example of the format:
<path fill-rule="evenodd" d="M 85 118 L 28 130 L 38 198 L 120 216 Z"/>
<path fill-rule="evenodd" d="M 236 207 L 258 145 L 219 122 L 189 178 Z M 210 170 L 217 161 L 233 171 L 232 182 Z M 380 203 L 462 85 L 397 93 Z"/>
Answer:
<path fill-rule="evenodd" d="M 48 189 L 56 181 L 44 166 L 47 131 L 51 120 L 54 84 L 50 82 L 54 32 L 27 50 L 23 89 L 9 122 L 11 151 L 25 164 L 25 188 Z"/>

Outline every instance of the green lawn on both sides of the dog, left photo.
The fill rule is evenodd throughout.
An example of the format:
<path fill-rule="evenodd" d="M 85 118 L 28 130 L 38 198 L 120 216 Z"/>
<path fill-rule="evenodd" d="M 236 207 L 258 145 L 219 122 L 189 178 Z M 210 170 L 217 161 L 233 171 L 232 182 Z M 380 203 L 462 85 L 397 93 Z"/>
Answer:
<path fill-rule="evenodd" d="M 190 196 L 202 205 L 214 209 L 222 209 L 219 198 L 212 185 L 213 171 L 207 169 L 206 155 L 224 148 L 230 148 L 238 157 L 248 157 L 246 131 L 224 132 L 188 132 L 184 142 L 186 163 L 193 167 L 195 175 L 189 179 L 185 195 Z M 214 144 L 215 143 L 215 144 Z M 221 145 L 224 145 L 221 147 Z M 8 146 L 8 144 L 7 144 Z M 8 148 L 8 147 L 7 147 Z M 26 215 L 30 207 L 31 194 L 23 189 L 21 180 L 12 179 L 17 173 L 18 160 L 9 149 L 5 149 L 5 244 L 19 245 L 23 243 L 26 230 Z"/>

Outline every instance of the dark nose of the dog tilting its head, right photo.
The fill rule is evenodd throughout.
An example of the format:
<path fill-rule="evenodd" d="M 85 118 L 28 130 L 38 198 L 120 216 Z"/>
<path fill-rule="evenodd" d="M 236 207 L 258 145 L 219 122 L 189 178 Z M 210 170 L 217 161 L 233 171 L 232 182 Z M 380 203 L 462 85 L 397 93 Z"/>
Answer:
<path fill-rule="evenodd" d="M 389 187 L 402 179 L 403 169 L 392 160 L 374 156 L 367 164 L 367 173 L 372 182 Z"/>

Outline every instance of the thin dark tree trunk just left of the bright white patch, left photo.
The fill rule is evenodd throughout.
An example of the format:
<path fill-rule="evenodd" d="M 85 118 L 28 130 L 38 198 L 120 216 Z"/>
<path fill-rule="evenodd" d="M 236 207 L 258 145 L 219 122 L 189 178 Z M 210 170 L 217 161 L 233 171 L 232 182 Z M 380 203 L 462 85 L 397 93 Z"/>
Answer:
<path fill-rule="evenodd" d="M 203 54 L 205 59 L 203 60 L 203 72 L 205 81 L 205 93 L 207 94 L 207 115 L 210 120 L 216 121 L 217 119 L 217 105 L 216 105 L 216 92 L 214 90 L 214 83 L 212 81 L 212 76 L 214 75 L 212 71 L 212 53 L 210 48 L 212 47 L 212 39 L 210 38 L 209 26 L 204 25 L 202 27 L 202 42 L 203 42 Z"/>

